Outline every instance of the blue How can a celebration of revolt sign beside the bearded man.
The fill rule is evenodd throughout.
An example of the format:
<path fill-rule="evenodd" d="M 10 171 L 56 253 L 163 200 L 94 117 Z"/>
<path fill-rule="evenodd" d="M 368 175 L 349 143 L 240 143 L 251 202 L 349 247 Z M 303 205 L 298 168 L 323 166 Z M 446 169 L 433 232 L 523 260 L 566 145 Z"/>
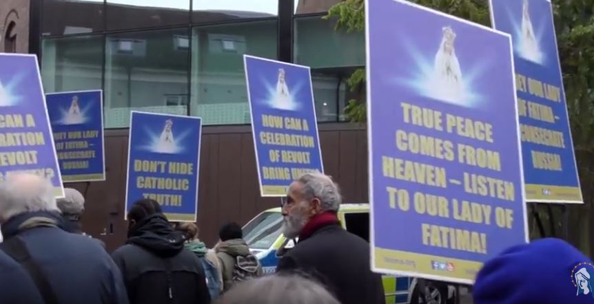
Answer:
<path fill-rule="evenodd" d="M 303 173 L 324 171 L 309 67 L 243 59 L 260 194 L 285 196 Z"/>

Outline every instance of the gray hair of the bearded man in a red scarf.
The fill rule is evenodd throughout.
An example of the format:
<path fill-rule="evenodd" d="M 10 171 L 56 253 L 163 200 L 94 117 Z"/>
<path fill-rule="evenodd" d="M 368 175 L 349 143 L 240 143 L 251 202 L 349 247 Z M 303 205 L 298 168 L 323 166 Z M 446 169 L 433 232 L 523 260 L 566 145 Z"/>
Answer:
<path fill-rule="evenodd" d="M 322 210 L 338 211 L 342 197 L 338 184 L 331 177 L 319 172 L 305 173 L 297 182 L 303 185 L 302 194 L 305 199 L 320 199 Z"/>

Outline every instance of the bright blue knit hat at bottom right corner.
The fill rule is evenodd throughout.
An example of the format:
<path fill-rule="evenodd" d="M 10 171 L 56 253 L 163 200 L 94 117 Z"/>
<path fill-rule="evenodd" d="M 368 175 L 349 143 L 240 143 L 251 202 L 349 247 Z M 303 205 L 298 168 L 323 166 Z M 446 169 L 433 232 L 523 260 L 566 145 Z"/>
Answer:
<path fill-rule="evenodd" d="M 540 239 L 487 261 L 473 298 L 475 304 L 594 304 L 592 287 L 590 259 L 561 239 Z"/>

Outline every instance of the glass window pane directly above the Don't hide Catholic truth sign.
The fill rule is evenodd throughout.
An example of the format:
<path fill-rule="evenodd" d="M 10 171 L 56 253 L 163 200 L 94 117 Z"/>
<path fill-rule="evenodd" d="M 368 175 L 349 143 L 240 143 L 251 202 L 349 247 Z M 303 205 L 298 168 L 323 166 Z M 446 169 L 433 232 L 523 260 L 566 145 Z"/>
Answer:
<path fill-rule="evenodd" d="M 107 35 L 105 127 L 127 127 L 130 111 L 187 114 L 186 28 Z"/>

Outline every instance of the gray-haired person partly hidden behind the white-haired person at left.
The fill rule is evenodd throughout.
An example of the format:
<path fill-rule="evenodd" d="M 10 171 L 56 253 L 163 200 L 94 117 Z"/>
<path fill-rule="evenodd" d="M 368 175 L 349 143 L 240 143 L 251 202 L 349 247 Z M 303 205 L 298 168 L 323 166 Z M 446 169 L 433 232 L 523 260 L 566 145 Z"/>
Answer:
<path fill-rule="evenodd" d="M 64 218 L 64 230 L 91 237 L 81 229 L 81 217 L 85 212 L 85 197 L 83 197 L 82 193 L 74 188 L 64 188 L 64 197 L 57 199 L 57 204 Z M 99 241 L 101 246 L 105 248 L 103 241 L 100 239 L 95 240 Z"/>

